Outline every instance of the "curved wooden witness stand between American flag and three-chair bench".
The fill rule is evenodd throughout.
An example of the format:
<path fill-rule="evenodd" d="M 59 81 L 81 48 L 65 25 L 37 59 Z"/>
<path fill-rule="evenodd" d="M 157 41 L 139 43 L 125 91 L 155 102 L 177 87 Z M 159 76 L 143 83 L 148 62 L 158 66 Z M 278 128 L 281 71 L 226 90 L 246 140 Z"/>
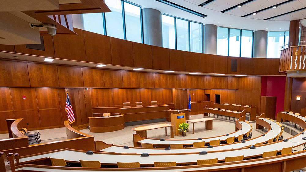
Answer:
<path fill-rule="evenodd" d="M 113 113 L 111 113 L 113 114 Z M 105 133 L 124 129 L 124 115 L 89 117 L 90 132 Z"/>

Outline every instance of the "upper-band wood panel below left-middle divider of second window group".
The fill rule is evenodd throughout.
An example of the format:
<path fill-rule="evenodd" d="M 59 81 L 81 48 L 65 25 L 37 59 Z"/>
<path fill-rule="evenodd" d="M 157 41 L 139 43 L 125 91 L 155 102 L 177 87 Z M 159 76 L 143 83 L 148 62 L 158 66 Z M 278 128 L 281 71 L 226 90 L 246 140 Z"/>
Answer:
<path fill-rule="evenodd" d="M 170 70 L 185 71 L 185 51 L 169 49 Z"/>

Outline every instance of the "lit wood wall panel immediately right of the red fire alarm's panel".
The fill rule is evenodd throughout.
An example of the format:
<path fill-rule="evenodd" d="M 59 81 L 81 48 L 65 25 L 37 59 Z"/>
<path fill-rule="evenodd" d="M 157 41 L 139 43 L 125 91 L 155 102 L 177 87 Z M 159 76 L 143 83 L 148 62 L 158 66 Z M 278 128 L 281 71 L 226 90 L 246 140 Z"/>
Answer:
<path fill-rule="evenodd" d="M 39 109 L 60 108 L 57 88 L 36 88 Z"/>

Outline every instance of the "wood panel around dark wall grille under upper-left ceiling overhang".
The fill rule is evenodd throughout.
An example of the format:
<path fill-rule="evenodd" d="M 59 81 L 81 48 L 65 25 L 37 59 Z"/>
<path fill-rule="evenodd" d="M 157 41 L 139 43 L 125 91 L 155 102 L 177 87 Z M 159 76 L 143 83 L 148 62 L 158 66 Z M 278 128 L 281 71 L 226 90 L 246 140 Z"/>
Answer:
<path fill-rule="evenodd" d="M 37 50 L 27 48 L 26 45 L 15 45 L 16 53 L 23 54 L 33 54 L 37 56 L 55 57 L 54 56 L 54 46 L 53 46 L 53 36 L 51 35 L 41 35 L 43 37 L 43 44 L 45 50 Z M 73 42 L 74 43 L 74 42 Z"/>

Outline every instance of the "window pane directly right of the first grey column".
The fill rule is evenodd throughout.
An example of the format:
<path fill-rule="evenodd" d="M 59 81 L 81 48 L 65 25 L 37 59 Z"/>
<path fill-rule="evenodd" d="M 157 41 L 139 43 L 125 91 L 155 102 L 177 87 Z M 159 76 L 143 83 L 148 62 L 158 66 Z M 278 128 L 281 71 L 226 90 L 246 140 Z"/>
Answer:
<path fill-rule="evenodd" d="M 162 15 L 162 47 L 175 49 L 174 17 Z"/>

